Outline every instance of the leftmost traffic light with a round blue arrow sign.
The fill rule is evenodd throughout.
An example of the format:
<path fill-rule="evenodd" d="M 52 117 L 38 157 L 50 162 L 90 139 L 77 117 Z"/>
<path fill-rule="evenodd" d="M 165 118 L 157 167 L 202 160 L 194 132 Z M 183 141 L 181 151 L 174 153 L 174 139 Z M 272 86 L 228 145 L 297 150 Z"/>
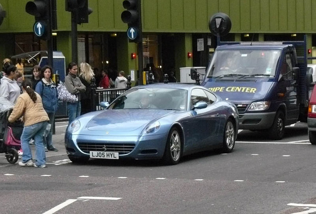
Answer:
<path fill-rule="evenodd" d="M 35 16 L 35 24 L 33 26 L 35 36 L 41 40 L 49 40 L 51 38 L 50 0 L 28 1 L 25 5 L 25 11 Z"/>

